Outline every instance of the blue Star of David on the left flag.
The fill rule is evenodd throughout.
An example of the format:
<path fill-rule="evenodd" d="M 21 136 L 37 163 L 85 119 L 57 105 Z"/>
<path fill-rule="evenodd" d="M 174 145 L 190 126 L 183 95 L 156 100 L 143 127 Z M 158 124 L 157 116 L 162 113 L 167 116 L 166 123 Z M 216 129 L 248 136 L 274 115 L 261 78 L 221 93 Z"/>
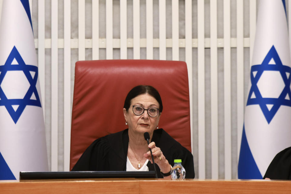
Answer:
<path fill-rule="evenodd" d="M 12 65 L 12 61 L 14 59 L 18 62 L 18 65 Z M 27 78 L 30 84 L 30 87 L 23 99 L 7 99 L 5 93 L 1 88 L 1 83 L 7 71 L 23 71 L 25 77 Z M 35 72 L 33 78 L 30 72 Z M 15 124 L 17 123 L 18 119 L 20 118 L 22 112 L 24 111 L 27 105 L 42 107 L 36 89 L 37 78 L 38 78 L 38 67 L 34 65 L 26 65 L 21 55 L 19 54 L 18 50 L 14 46 L 5 64 L 0 65 L 0 106 L 5 106 Z M 33 93 L 35 95 L 35 99 L 31 99 Z M 19 105 L 16 111 L 12 108 L 12 105 Z"/>

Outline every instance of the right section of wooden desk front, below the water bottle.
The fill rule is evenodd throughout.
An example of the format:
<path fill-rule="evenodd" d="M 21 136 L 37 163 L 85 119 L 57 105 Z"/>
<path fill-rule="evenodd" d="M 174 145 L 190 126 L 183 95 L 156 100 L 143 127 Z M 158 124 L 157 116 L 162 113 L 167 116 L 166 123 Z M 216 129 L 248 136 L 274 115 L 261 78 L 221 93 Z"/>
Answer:
<path fill-rule="evenodd" d="M 148 194 L 149 188 L 158 193 L 291 193 L 291 181 L 270 180 L 199 180 L 141 181 L 140 193 Z"/>

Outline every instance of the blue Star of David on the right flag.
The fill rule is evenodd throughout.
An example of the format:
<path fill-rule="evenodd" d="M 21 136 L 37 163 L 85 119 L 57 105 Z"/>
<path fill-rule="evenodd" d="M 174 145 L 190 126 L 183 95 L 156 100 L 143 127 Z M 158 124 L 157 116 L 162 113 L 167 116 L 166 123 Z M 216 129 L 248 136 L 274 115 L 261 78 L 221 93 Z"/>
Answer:
<path fill-rule="evenodd" d="M 274 59 L 276 65 L 269 64 L 271 59 Z M 279 71 L 280 75 L 282 76 L 283 82 L 285 87 L 278 98 L 263 98 L 257 83 L 264 71 Z M 253 72 L 257 72 L 256 75 Z M 291 76 L 287 78 L 286 73 L 291 73 L 291 68 L 289 66 L 283 65 L 281 59 L 274 47 L 269 50 L 268 54 L 266 55 L 265 59 L 263 60 L 262 64 L 260 65 L 253 65 L 251 68 L 251 89 L 249 91 L 248 101 L 246 105 L 259 105 L 268 124 L 272 121 L 273 117 L 275 116 L 276 112 L 280 108 L 281 105 L 290 106 L 291 107 L 291 91 L 290 91 L 290 82 Z M 252 94 L 255 94 L 255 98 L 251 98 Z M 286 96 L 289 95 L 289 99 Z M 273 105 L 273 107 L 269 110 L 267 105 Z"/>

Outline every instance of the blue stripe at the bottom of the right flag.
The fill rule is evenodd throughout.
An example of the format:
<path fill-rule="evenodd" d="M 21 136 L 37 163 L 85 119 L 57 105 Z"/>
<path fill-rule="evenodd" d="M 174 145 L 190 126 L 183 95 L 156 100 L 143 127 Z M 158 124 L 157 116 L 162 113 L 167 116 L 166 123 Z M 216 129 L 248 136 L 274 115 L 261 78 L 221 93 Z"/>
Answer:
<path fill-rule="evenodd" d="M 258 169 L 258 166 L 255 162 L 253 154 L 249 149 L 249 143 L 248 140 L 246 139 L 245 126 L 243 126 L 242 142 L 239 152 L 238 178 L 263 179 Z"/>

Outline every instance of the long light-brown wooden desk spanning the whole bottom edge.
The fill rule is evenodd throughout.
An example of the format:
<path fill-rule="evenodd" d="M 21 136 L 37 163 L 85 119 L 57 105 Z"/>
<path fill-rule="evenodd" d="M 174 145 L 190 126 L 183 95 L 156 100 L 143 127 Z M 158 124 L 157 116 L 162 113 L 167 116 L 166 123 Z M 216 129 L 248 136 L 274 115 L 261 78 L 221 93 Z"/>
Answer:
<path fill-rule="evenodd" d="M 0 193 L 291 193 L 291 181 L 163 179 L 62 179 L 0 181 Z"/>

